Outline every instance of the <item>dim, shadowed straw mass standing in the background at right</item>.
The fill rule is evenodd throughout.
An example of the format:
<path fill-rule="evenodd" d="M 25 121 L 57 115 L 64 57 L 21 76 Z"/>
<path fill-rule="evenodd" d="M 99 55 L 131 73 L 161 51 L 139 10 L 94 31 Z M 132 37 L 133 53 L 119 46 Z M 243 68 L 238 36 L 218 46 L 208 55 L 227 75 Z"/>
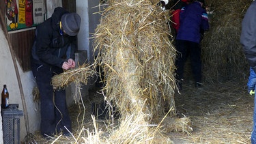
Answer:
<path fill-rule="evenodd" d="M 211 27 L 202 42 L 205 77 L 208 81 L 214 81 L 214 78 L 225 81 L 244 76 L 248 65 L 240 44 L 240 33 L 242 18 L 251 0 L 206 2 L 211 12 Z"/>

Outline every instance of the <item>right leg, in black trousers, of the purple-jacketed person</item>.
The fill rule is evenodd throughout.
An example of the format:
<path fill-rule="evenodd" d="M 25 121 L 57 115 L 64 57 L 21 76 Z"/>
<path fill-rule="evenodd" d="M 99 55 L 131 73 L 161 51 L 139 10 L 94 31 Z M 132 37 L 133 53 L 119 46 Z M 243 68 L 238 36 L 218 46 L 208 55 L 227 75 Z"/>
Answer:
<path fill-rule="evenodd" d="M 192 65 L 192 71 L 195 78 L 196 86 L 201 86 L 201 77 L 202 77 L 202 62 L 201 62 L 201 47 L 200 44 L 195 42 L 190 42 L 190 59 Z"/>

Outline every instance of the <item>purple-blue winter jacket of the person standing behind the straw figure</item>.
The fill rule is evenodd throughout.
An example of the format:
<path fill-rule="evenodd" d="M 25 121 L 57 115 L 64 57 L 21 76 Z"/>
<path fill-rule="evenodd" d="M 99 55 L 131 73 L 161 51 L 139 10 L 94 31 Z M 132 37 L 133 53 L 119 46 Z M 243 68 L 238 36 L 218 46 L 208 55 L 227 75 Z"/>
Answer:
<path fill-rule="evenodd" d="M 207 31 L 210 28 L 208 14 L 197 1 L 186 5 L 180 12 L 180 29 L 176 40 L 188 40 L 200 43 L 200 31 Z"/>

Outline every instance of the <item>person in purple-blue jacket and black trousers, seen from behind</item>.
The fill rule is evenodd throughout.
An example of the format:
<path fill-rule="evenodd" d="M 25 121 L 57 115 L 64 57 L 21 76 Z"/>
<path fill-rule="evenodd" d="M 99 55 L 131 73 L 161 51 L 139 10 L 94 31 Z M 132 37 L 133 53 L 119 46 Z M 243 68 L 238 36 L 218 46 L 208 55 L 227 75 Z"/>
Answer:
<path fill-rule="evenodd" d="M 182 8 L 180 12 L 180 28 L 177 31 L 176 48 L 177 59 L 176 79 L 177 87 L 182 89 L 182 80 L 184 73 L 184 64 L 186 57 L 189 54 L 195 77 L 195 86 L 201 87 L 201 29 L 206 31 L 210 28 L 208 22 L 208 15 L 203 9 L 204 0 L 197 0 L 186 7 Z"/>

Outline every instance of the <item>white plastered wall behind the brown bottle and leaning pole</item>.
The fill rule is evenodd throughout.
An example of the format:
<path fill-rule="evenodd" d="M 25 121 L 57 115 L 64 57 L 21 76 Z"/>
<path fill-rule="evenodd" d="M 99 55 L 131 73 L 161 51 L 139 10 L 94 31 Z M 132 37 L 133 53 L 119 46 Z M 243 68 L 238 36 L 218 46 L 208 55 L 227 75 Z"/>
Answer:
<path fill-rule="evenodd" d="M 14 68 L 14 63 L 12 61 L 12 55 L 10 53 L 10 47 L 5 38 L 5 35 L 0 29 L 0 89 L 3 89 L 3 85 L 7 85 L 9 91 L 9 103 L 10 104 L 18 104 L 18 110 L 23 110 L 23 104 L 20 98 L 20 90 L 18 86 L 18 80 Z M 17 62 L 17 61 L 16 61 Z M 29 118 L 29 132 L 33 133 L 35 130 L 39 129 L 38 121 L 40 119 L 38 104 L 33 102 L 32 90 L 35 85 L 33 81 L 33 75 L 31 72 L 23 72 L 18 65 L 18 73 L 20 75 L 20 80 L 23 86 L 23 92 L 25 96 L 27 113 Z M 2 117 L 1 117 L 2 119 Z M 3 128 L 2 121 L 0 122 L 0 143 L 3 143 Z M 25 119 L 24 116 L 20 116 L 20 141 L 23 141 L 25 136 L 27 135 L 25 128 Z"/>

